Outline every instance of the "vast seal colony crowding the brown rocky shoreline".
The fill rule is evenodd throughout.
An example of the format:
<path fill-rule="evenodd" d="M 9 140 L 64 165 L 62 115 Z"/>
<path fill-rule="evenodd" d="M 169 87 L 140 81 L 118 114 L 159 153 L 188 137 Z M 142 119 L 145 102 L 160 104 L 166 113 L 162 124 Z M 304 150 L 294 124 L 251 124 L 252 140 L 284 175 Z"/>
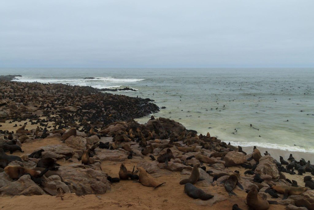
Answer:
<path fill-rule="evenodd" d="M 293 154 L 279 162 L 256 147 L 246 154 L 162 117 L 139 124 L 133 118 L 159 111 L 150 99 L 62 84 L 0 84 L 1 196 L 64 199 L 135 185 L 152 196 L 175 187 L 196 205 L 228 200 L 230 209 L 314 209 L 314 167 Z"/>

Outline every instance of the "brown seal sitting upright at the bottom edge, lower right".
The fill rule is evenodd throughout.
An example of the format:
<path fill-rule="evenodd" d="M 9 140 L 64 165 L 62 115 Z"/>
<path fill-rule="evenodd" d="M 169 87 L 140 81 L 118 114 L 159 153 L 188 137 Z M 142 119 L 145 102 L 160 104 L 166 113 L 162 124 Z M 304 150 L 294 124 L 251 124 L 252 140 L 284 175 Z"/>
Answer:
<path fill-rule="evenodd" d="M 269 208 L 269 204 L 277 204 L 277 201 L 263 200 L 258 195 L 256 187 L 253 187 L 246 195 L 246 204 L 252 210 L 267 210 Z"/>

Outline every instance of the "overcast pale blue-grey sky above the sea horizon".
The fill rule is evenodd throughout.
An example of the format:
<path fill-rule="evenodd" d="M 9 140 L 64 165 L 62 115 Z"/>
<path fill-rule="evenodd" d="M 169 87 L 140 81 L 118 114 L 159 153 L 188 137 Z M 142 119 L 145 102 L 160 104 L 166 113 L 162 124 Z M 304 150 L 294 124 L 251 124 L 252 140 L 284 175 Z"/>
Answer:
<path fill-rule="evenodd" d="M 313 0 L 0 1 L 0 67 L 314 67 Z"/>

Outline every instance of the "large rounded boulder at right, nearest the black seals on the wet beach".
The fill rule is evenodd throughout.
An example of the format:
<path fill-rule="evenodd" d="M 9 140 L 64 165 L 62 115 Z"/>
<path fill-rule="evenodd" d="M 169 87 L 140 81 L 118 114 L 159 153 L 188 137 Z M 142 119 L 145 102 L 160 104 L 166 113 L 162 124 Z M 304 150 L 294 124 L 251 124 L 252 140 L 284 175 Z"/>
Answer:
<path fill-rule="evenodd" d="M 279 179 L 279 171 L 276 166 L 276 160 L 269 156 L 263 156 L 259 160 L 259 164 L 257 165 L 255 171 L 260 175 L 270 175 L 272 179 Z"/>

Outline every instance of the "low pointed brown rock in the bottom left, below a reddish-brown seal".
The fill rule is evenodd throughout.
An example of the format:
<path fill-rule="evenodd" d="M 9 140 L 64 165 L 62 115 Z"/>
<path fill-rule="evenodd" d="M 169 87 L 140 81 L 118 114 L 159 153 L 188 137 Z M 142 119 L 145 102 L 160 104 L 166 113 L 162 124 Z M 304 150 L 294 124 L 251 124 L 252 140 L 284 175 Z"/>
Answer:
<path fill-rule="evenodd" d="M 30 179 L 30 175 L 23 175 L 17 181 L 0 188 L 1 196 L 33 196 L 43 195 L 44 191 Z"/>

